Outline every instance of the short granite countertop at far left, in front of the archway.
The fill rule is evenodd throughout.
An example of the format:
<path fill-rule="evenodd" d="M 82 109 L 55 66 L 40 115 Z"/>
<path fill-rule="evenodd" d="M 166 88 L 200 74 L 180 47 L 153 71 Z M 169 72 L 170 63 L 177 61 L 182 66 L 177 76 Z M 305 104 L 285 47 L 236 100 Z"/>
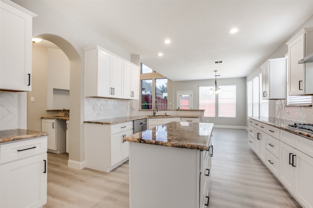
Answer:
<path fill-rule="evenodd" d="M 18 141 L 22 139 L 30 139 L 40 136 L 49 135 L 48 132 L 39 132 L 27 129 L 10 129 L 0 131 L 0 144 L 5 142 Z"/>

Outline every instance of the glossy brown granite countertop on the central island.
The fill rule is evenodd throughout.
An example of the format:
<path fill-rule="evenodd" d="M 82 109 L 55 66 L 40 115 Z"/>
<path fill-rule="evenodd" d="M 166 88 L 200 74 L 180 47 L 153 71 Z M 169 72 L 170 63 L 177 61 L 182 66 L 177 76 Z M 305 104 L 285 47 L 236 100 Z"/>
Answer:
<path fill-rule="evenodd" d="M 124 141 L 208 150 L 213 123 L 170 122 L 124 137 Z"/>

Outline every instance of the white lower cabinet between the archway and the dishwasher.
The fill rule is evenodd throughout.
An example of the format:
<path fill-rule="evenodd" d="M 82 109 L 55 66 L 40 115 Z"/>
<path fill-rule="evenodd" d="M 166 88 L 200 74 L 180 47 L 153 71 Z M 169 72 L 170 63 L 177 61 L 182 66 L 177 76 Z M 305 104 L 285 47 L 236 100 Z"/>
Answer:
<path fill-rule="evenodd" d="M 109 172 L 128 160 L 129 142 L 123 138 L 133 134 L 133 122 L 118 124 L 85 123 L 86 168 Z"/>

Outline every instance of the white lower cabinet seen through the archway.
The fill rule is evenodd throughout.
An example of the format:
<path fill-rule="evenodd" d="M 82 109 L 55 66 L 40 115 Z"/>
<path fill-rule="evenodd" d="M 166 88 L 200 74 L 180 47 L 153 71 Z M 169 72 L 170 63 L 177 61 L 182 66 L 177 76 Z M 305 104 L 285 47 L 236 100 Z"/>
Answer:
<path fill-rule="evenodd" d="M 60 119 L 42 119 L 41 130 L 49 132 L 48 151 L 52 153 L 66 152 L 66 121 Z"/>

